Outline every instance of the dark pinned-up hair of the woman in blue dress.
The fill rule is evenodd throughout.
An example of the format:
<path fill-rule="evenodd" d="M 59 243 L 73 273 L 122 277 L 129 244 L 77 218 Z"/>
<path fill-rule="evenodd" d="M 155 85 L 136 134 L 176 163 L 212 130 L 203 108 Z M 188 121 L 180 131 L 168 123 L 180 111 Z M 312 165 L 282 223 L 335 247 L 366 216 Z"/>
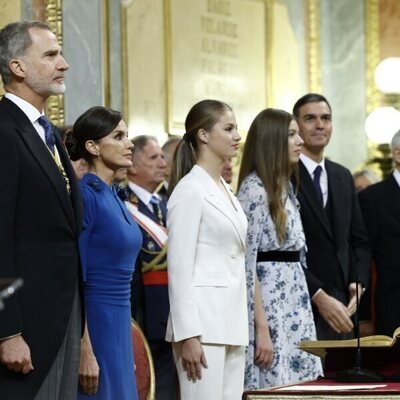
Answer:
<path fill-rule="evenodd" d="M 93 155 L 86 150 L 88 140 L 98 141 L 110 134 L 122 120 L 122 114 L 111 108 L 96 106 L 89 108 L 75 122 L 68 135 L 66 147 L 72 161 L 85 159 L 91 162 Z"/>

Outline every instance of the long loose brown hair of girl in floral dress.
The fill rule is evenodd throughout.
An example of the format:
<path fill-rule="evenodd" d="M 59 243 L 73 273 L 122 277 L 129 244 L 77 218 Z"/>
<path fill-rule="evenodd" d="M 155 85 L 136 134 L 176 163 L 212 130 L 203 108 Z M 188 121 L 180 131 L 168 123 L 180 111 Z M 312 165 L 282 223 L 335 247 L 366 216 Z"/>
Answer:
<path fill-rule="evenodd" d="M 289 125 L 293 116 L 286 111 L 267 108 L 252 122 L 244 144 L 239 172 L 239 187 L 253 171 L 268 194 L 268 209 L 280 241 L 286 233 L 286 211 L 282 196 L 289 183 Z"/>

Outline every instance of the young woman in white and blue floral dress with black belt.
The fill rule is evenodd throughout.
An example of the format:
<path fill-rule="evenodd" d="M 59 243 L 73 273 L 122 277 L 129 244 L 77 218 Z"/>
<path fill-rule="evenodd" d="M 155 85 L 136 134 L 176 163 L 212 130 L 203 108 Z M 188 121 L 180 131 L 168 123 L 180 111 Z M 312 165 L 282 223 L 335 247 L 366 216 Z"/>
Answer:
<path fill-rule="evenodd" d="M 238 199 L 248 219 L 246 389 L 322 375 L 320 359 L 298 349 L 302 340 L 316 339 L 303 271 L 305 236 L 290 182 L 302 144 L 291 114 L 266 109 L 244 147 Z"/>

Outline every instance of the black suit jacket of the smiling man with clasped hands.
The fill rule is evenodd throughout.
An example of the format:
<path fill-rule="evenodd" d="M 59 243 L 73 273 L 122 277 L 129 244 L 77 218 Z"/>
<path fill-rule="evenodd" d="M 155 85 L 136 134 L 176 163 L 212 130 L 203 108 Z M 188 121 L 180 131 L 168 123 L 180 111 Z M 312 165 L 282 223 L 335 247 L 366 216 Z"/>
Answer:
<path fill-rule="evenodd" d="M 366 285 L 369 279 L 368 238 L 352 176 L 346 168 L 329 160 L 325 160 L 325 168 L 332 223 L 317 198 L 310 174 L 299 162 L 298 199 L 306 236 L 305 275 L 311 297 L 319 288 L 329 292 L 338 283 L 347 293 L 349 283 L 355 281 L 356 268 L 360 282 Z M 334 281 L 330 274 L 333 268 L 340 274 Z"/>

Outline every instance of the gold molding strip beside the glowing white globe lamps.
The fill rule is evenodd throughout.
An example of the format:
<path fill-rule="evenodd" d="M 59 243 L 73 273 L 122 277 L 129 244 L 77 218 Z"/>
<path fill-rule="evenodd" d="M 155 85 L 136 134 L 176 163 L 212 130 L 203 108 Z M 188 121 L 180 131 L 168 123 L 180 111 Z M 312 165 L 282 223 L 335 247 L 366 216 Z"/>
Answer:
<path fill-rule="evenodd" d="M 375 85 L 375 68 L 380 61 L 379 52 L 379 0 L 364 0 L 365 20 L 365 81 L 366 112 L 381 105 L 381 93 Z"/>

